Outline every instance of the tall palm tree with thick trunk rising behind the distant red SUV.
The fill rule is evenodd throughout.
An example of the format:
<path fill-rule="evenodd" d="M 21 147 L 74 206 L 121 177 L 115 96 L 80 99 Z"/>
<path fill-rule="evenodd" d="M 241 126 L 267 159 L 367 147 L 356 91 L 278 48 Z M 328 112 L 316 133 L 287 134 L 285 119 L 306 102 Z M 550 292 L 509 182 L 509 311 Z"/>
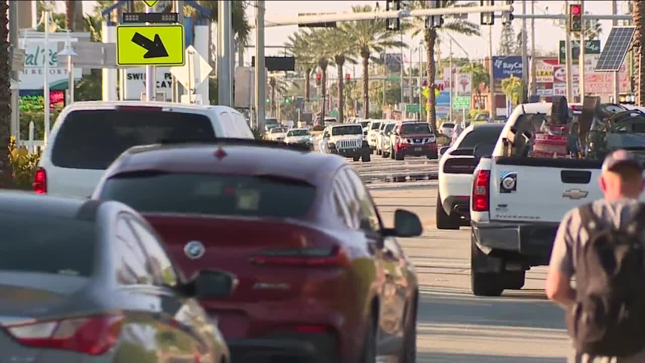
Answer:
<path fill-rule="evenodd" d="M 452 7 L 457 4 L 456 0 L 448 0 L 444 1 L 444 7 Z M 470 3 L 465 3 L 465 4 L 460 4 L 459 6 L 475 6 L 477 5 L 474 2 Z M 425 1 L 411 1 L 410 6 L 412 8 L 424 8 L 425 6 Z M 437 43 L 437 37 L 439 34 L 437 32 L 455 32 L 459 34 L 465 34 L 467 36 L 479 36 L 479 25 L 475 23 L 471 23 L 468 20 L 464 19 L 450 19 L 446 17 L 448 21 L 444 23 L 444 25 L 441 28 L 428 28 L 426 29 L 425 26 L 425 20 L 422 17 L 417 17 L 413 20 L 413 24 L 415 25 L 415 30 L 412 33 L 412 36 L 417 36 L 417 34 L 420 34 L 423 32 L 423 39 L 425 42 L 425 49 L 426 49 L 426 57 L 428 58 L 428 61 L 426 63 L 426 76 L 428 77 L 428 85 L 433 85 L 435 83 L 435 74 L 436 74 L 436 67 L 435 67 L 435 43 Z M 428 123 L 434 127 L 434 129 L 437 129 L 437 103 L 435 101 L 435 94 L 434 92 L 430 92 L 429 94 L 430 98 L 428 99 L 428 103 L 430 103 L 430 107 L 428 109 Z"/>

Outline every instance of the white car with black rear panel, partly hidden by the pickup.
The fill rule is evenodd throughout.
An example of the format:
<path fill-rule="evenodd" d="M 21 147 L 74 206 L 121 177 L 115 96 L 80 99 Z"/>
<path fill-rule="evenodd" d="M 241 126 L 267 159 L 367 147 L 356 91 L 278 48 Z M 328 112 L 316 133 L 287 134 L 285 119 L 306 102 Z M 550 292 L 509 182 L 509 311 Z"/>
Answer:
<path fill-rule="evenodd" d="M 470 125 L 452 146 L 442 147 L 439 160 L 437 191 L 437 229 L 459 229 L 470 225 L 470 192 L 473 172 L 479 160 L 473 156 L 475 146 L 494 145 L 504 123 Z"/>

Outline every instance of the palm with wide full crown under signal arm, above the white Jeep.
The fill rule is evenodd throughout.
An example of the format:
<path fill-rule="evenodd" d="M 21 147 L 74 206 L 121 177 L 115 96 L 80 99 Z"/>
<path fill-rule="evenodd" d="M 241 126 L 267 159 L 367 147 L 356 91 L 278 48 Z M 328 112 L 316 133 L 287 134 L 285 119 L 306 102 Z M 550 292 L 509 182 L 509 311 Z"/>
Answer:
<path fill-rule="evenodd" d="M 352 6 L 352 11 L 371 12 L 372 6 Z M 395 40 L 399 33 L 388 30 L 383 19 L 342 23 L 341 30 L 361 56 L 364 118 L 370 118 L 370 60 L 380 63 L 380 59 L 373 54 L 381 54 L 388 48 L 407 48 L 408 45 Z"/>

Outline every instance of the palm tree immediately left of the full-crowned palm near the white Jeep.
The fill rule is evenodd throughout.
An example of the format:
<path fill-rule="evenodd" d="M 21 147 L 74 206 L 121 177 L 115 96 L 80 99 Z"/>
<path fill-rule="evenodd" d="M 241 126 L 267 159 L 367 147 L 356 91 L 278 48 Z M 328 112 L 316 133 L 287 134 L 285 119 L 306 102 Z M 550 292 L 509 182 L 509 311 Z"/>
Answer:
<path fill-rule="evenodd" d="M 355 49 L 353 48 L 353 44 L 346 37 L 341 30 L 338 28 L 331 28 L 329 30 L 326 30 L 323 32 L 323 45 L 322 47 L 326 49 L 332 50 L 332 59 L 333 63 L 336 66 L 336 72 L 337 72 L 337 82 L 336 82 L 336 87 L 337 87 L 337 100 L 338 100 L 338 121 L 343 122 L 344 121 L 344 107 L 345 107 L 345 99 L 344 99 L 344 72 L 342 70 L 342 67 L 344 66 L 345 62 L 349 62 L 352 64 L 356 64 L 356 60 L 354 59 L 355 56 Z"/>

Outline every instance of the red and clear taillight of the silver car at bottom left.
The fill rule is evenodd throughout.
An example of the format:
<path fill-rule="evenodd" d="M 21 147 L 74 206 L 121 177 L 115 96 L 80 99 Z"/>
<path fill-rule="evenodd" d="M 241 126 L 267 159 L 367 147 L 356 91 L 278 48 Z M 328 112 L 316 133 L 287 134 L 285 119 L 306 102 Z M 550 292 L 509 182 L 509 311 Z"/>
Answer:
<path fill-rule="evenodd" d="M 5 326 L 23 346 L 102 355 L 119 340 L 123 316 L 95 315 Z"/>

